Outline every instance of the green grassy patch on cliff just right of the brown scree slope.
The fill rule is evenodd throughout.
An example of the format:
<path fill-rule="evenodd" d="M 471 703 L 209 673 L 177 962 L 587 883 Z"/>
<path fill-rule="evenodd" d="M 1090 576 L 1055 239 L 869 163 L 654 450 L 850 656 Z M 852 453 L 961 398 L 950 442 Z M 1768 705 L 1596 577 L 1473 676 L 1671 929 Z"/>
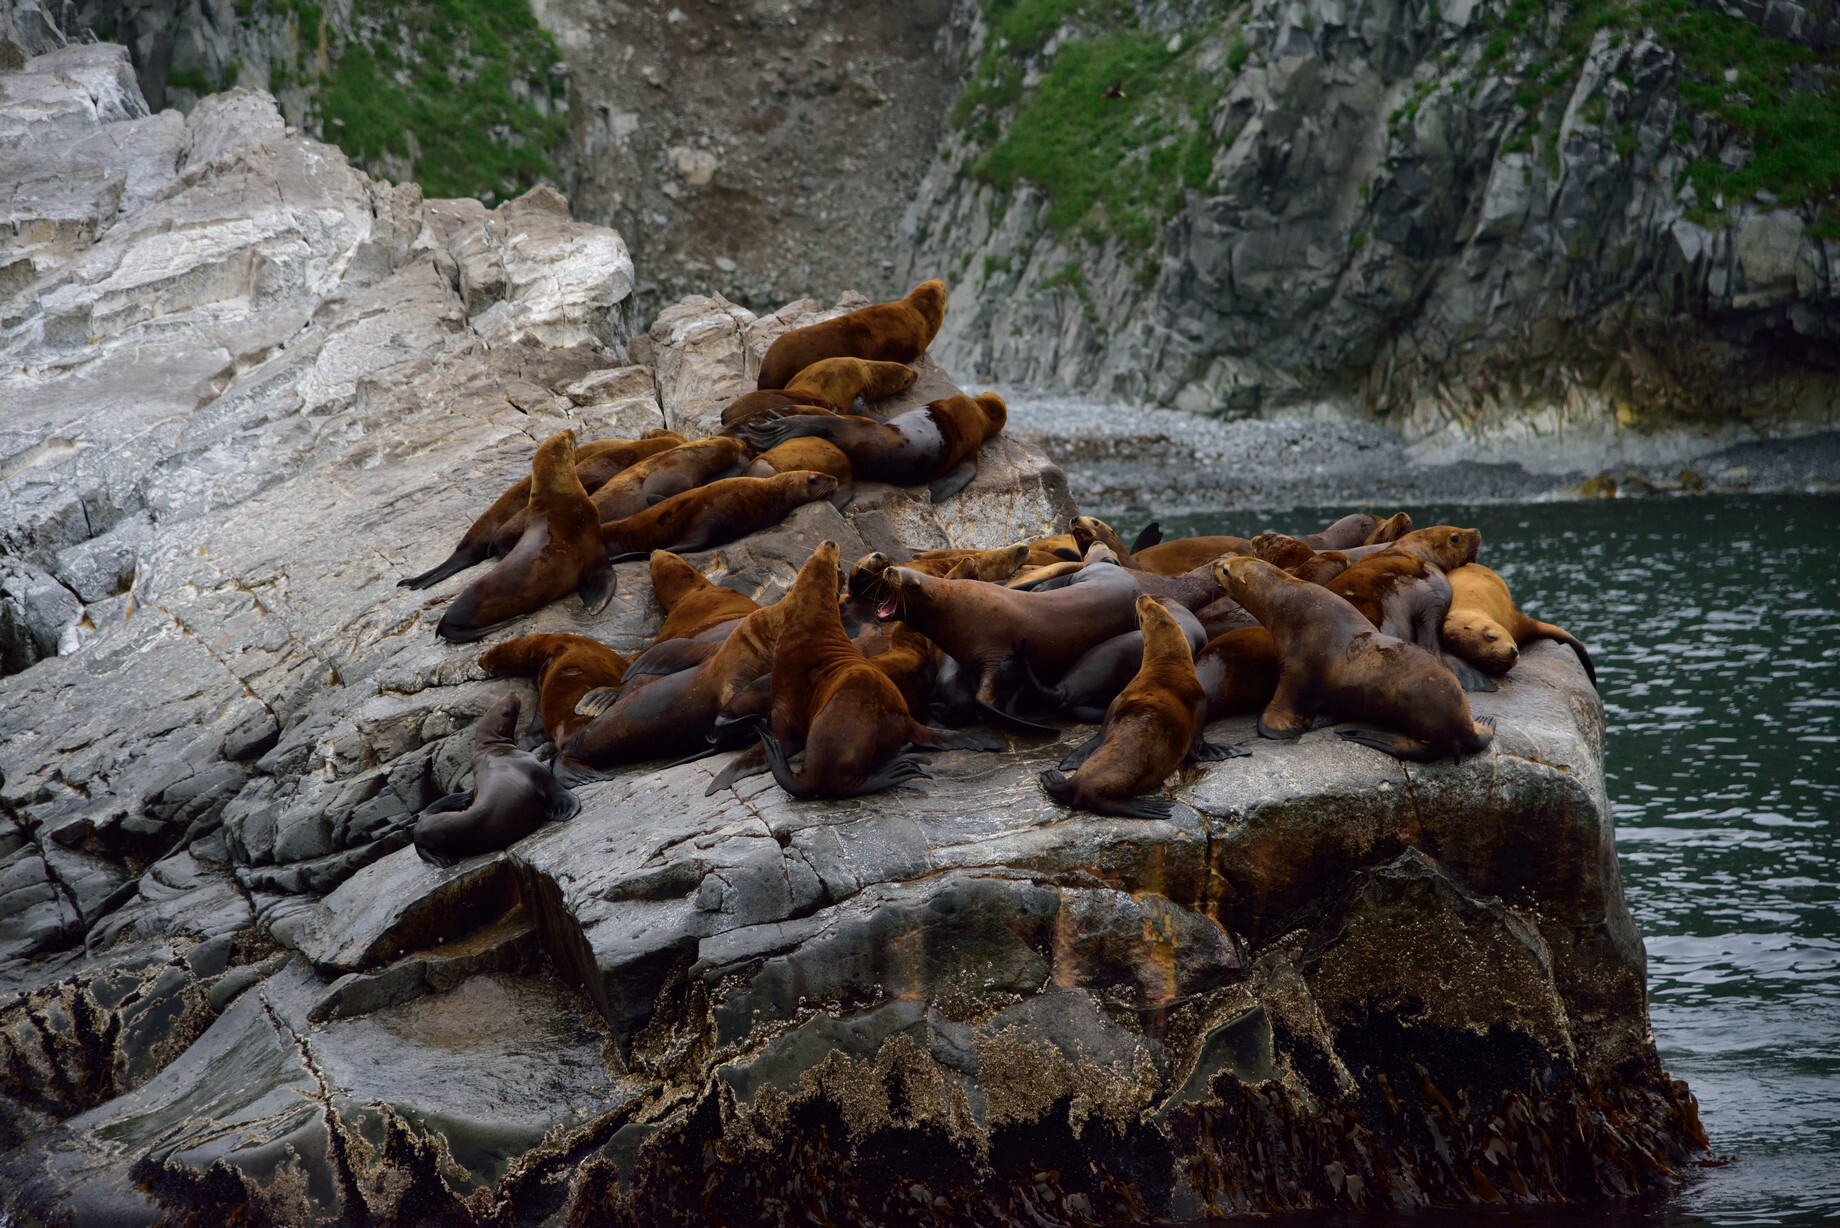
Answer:
<path fill-rule="evenodd" d="M 1203 74 L 1196 53 L 1216 31 L 1187 29 L 1170 50 L 1115 0 L 986 0 L 986 15 L 988 46 L 951 116 L 986 145 L 972 175 L 1005 191 L 1041 188 L 1054 232 L 1150 247 L 1183 190 L 1213 171 L 1207 120 L 1224 79 Z M 1043 63 L 1064 26 L 1073 35 Z M 1246 63 L 1244 41 L 1225 63 L 1227 75 Z M 1030 68 L 1038 79 L 1025 85 Z"/>

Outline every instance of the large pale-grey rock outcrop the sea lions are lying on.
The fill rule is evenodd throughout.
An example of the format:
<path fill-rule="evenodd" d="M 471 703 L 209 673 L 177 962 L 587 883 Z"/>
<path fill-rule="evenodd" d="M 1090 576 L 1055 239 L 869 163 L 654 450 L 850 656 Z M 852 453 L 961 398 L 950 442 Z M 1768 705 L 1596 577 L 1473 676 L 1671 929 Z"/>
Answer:
<path fill-rule="evenodd" d="M 554 431 L 707 431 L 819 306 L 638 333 L 624 243 L 556 193 L 423 201 L 259 92 L 153 116 L 112 46 L 0 74 L 0 184 L 13 1222 L 1089 1224 L 1625 1195 L 1704 1145 L 1603 705 L 1547 644 L 1478 696 L 1485 755 L 1224 722 L 1251 757 L 1167 823 L 1051 803 L 1069 731 L 850 803 L 638 766 L 421 863 L 524 683 L 432 635 L 464 578 L 396 580 Z M 822 538 L 1071 514 L 1001 438 L 942 506 L 865 484 L 694 562 L 769 600 Z M 622 565 L 515 631 L 659 617 Z"/>

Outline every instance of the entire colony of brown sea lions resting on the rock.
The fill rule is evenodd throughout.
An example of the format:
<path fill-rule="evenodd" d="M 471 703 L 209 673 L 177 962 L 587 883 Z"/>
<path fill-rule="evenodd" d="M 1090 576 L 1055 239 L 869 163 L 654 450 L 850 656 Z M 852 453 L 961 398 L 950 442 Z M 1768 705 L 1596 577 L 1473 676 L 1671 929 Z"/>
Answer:
<path fill-rule="evenodd" d="M 556 746 L 550 786 L 567 797 L 567 784 L 620 764 L 734 749 L 708 792 L 771 771 L 795 797 L 848 797 L 926 777 L 914 747 L 1001 747 L 940 720 L 1058 736 L 1038 718 L 1071 718 L 1100 729 L 1041 773 L 1043 788 L 1100 814 L 1167 817 L 1172 803 L 1144 795 L 1185 760 L 1249 753 L 1211 746 L 1209 720 L 1259 712 L 1262 736 L 1363 722 L 1374 729 L 1343 736 L 1437 759 L 1489 746 L 1465 689 L 1494 689 L 1518 643 L 1560 639 L 1590 668 L 1582 644 L 1522 615 L 1474 562 L 1476 530 L 1413 532 L 1404 514 L 1352 514 L 1303 538 L 1161 541 L 1152 525 L 1130 547 L 1082 516 L 1065 534 L 995 550 L 868 554 L 846 574 L 826 541 L 767 608 L 679 558 L 815 499 L 845 506 L 859 475 L 929 484 L 935 501 L 962 490 L 979 446 L 1003 431 L 1001 398 L 953 396 L 887 422 L 850 412 L 913 383 L 905 363 L 942 307 L 944 287 L 927 284 L 786 333 L 721 434 L 546 440 L 530 479 L 443 563 L 403 582 L 427 587 L 497 558 L 440 622 L 466 641 L 570 591 L 598 609 L 611 562 L 650 556 L 664 624 L 631 661 L 583 635 L 528 635 L 480 657 L 491 676 L 535 679 Z M 539 760 L 512 742 L 517 705 L 502 709 L 482 724 L 482 784 L 423 816 L 423 856 L 504 847 L 572 814 L 530 784 Z"/>

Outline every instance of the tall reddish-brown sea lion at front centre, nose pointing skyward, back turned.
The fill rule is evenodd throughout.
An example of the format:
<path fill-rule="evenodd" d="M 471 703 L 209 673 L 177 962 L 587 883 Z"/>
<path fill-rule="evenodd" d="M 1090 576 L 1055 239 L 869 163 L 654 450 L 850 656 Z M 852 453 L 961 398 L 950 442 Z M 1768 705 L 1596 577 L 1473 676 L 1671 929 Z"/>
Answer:
<path fill-rule="evenodd" d="M 767 766 L 793 797 L 857 797 L 926 775 L 900 751 L 999 749 L 981 733 L 929 729 L 907 711 L 900 689 L 843 633 L 837 617 L 837 543 L 821 541 L 780 600 L 773 648 L 771 720 L 760 729 Z M 804 747 L 793 768 L 788 747 Z"/>

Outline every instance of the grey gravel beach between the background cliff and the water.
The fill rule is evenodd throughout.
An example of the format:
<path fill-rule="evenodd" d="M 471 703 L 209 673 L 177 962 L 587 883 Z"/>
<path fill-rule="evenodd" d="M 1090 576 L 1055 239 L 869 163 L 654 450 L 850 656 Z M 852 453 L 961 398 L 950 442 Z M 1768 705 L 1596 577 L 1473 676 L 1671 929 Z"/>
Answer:
<path fill-rule="evenodd" d="M 1172 409 L 997 388 L 1008 429 L 1065 471 L 1097 514 L 1194 514 L 1384 503 L 1535 503 L 1568 497 L 1840 492 L 1840 433 L 1755 440 L 1685 466 L 1529 473 L 1520 464 L 1426 464 L 1367 422 L 1224 422 Z"/>

